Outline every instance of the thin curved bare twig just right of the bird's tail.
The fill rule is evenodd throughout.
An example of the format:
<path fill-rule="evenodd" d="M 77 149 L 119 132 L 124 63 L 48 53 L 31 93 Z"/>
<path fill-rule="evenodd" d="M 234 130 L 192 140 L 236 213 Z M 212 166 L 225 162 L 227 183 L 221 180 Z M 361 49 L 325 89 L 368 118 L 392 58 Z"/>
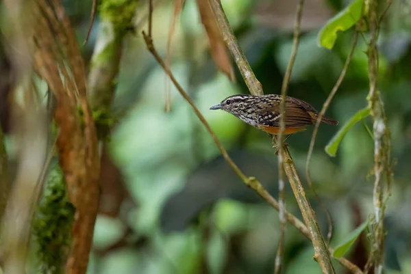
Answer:
<path fill-rule="evenodd" d="M 319 126 L 320 126 L 320 123 L 321 123 L 321 119 L 323 119 L 325 111 L 327 111 L 327 108 L 328 108 L 329 104 L 331 103 L 332 99 L 334 98 L 334 95 L 336 94 L 336 92 L 337 92 L 338 88 L 340 87 L 341 83 L 343 83 L 345 73 L 347 72 L 349 63 L 351 62 L 351 59 L 353 57 L 353 53 L 356 50 L 357 41 L 358 41 L 358 32 L 356 31 L 356 33 L 354 34 L 353 43 L 351 45 L 351 50 L 349 52 L 349 55 L 347 56 L 347 59 L 345 60 L 345 64 L 344 64 L 343 70 L 341 71 L 340 77 L 338 77 L 338 80 L 337 80 L 336 84 L 334 85 L 334 87 L 332 88 L 332 91 L 329 93 L 329 96 L 327 97 L 327 100 L 325 100 L 324 105 L 323 105 L 323 109 L 321 109 L 321 111 L 319 113 L 319 117 L 317 118 L 316 124 L 314 126 L 314 131 L 312 132 L 312 137 L 311 137 L 311 141 L 310 141 L 310 148 L 308 149 L 308 155 L 307 155 L 307 161 L 306 161 L 306 174 L 307 174 L 308 186 L 310 187 L 310 189 L 312 189 L 312 192 L 314 193 L 314 195 L 316 197 L 318 197 L 318 195 L 316 194 L 315 188 L 312 185 L 311 172 L 310 172 L 310 161 L 311 161 L 312 152 L 314 150 L 316 135 L 319 131 Z M 320 200 L 320 202 L 321 202 L 321 200 Z M 325 210 L 325 213 L 327 214 L 327 219 L 329 221 L 329 228 L 328 228 L 328 234 L 327 234 L 327 242 L 329 243 L 331 241 L 332 231 L 333 231 L 333 229 L 332 229 L 332 219 L 331 219 L 331 215 L 329 215 L 329 211 L 327 210 L 327 208 L 325 207 L 323 202 L 321 202 L 321 207 L 323 208 L 323 210 Z"/>

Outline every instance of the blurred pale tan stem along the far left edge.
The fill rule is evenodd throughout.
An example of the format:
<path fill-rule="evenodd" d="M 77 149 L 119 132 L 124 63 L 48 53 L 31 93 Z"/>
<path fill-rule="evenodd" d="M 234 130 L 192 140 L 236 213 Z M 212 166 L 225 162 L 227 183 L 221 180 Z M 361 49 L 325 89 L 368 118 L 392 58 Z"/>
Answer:
<path fill-rule="evenodd" d="M 33 47 L 32 26 L 36 17 L 31 14 L 31 1 L 3 1 L 10 22 L 9 39 L 12 42 L 12 64 L 16 72 L 16 85 L 24 92 L 24 111 L 14 119 L 13 129 L 18 136 L 18 169 L 10 197 L 1 220 L 1 245 L 4 273 L 25 273 L 29 223 L 32 206 L 36 204 L 32 193 L 47 151 L 46 115 L 34 96 L 31 85 Z M 3 146 L 3 144 L 1 144 Z"/>

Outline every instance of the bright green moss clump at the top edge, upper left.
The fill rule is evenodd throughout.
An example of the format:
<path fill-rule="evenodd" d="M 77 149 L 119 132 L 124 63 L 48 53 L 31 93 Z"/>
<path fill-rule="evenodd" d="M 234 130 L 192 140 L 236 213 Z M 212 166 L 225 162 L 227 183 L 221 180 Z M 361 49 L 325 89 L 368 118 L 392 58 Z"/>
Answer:
<path fill-rule="evenodd" d="M 99 12 L 101 18 L 113 23 L 116 31 L 127 31 L 133 27 L 137 5 L 138 0 L 101 0 Z"/>

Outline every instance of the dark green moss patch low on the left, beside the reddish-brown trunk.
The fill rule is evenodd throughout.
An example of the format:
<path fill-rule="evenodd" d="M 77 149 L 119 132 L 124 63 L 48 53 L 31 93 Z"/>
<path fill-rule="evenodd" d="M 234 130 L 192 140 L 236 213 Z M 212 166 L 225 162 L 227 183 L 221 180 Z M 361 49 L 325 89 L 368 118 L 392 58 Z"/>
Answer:
<path fill-rule="evenodd" d="M 71 243 L 75 208 L 69 201 L 60 166 L 51 169 L 45 192 L 33 220 L 40 273 L 62 273 Z"/>

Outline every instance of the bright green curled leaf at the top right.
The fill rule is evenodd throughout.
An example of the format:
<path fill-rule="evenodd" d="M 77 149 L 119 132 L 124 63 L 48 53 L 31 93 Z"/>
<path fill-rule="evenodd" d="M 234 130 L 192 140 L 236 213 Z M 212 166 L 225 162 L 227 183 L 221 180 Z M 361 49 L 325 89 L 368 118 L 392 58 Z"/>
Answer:
<path fill-rule="evenodd" d="M 347 31 L 360 20 L 362 3 L 364 3 L 364 0 L 354 0 L 344 10 L 328 20 L 319 32 L 319 46 L 332 49 L 337 40 L 337 32 Z"/>

